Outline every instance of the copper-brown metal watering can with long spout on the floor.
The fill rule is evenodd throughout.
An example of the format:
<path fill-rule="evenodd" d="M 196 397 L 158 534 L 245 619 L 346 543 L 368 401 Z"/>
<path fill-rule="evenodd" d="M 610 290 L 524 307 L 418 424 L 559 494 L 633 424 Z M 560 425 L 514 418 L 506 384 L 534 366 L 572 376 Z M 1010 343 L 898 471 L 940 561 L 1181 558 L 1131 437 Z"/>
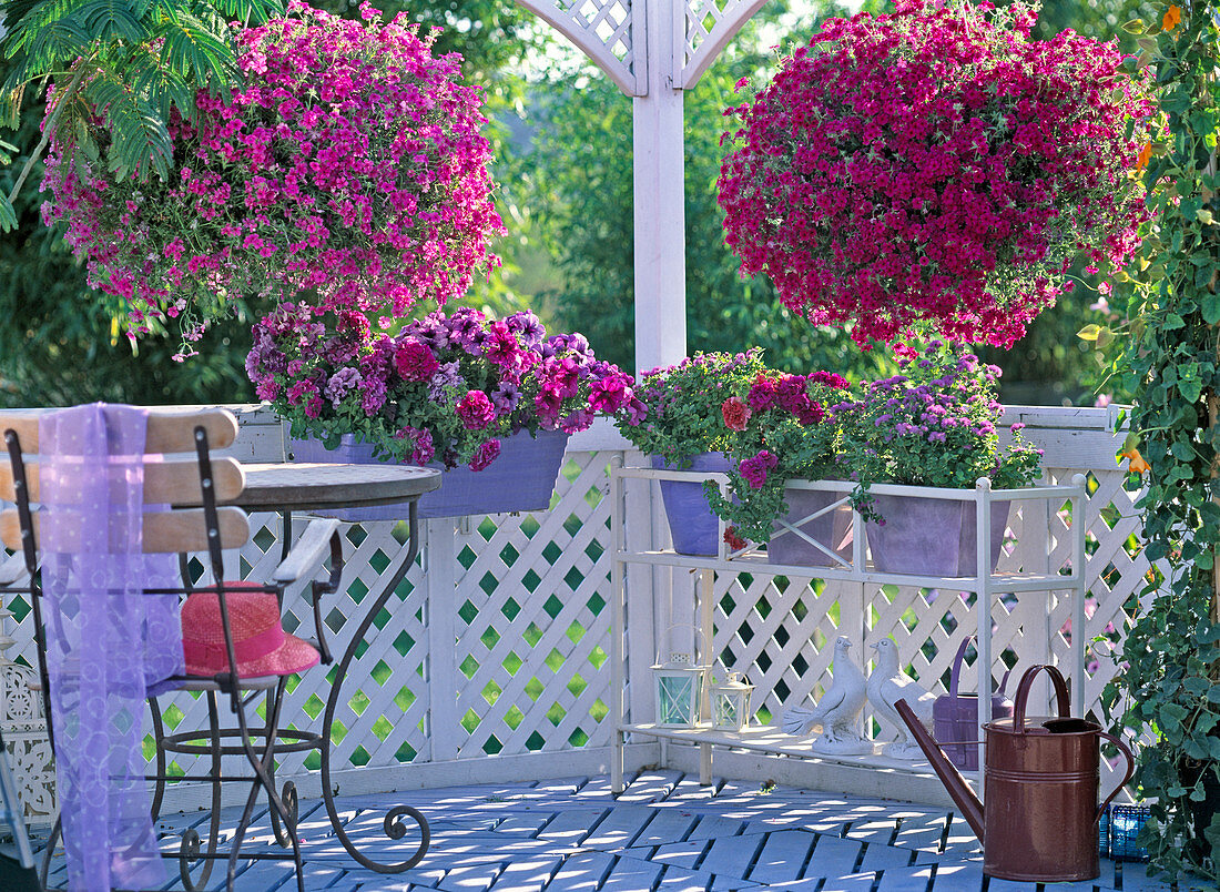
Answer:
<path fill-rule="evenodd" d="M 1025 715 L 1038 672 L 1050 675 L 1058 718 Z M 1131 780 L 1127 746 L 1087 719 L 1072 719 L 1068 683 L 1054 666 L 1032 666 L 1016 688 L 1013 718 L 983 725 L 983 803 L 906 705 L 895 704 L 961 816 L 983 844 L 983 872 L 1000 880 L 1070 882 L 1100 874 L 1097 825 L 1110 799 Z M 1097 804 L 1102 738 L 1119 748 L 1127 771 Z"/>

